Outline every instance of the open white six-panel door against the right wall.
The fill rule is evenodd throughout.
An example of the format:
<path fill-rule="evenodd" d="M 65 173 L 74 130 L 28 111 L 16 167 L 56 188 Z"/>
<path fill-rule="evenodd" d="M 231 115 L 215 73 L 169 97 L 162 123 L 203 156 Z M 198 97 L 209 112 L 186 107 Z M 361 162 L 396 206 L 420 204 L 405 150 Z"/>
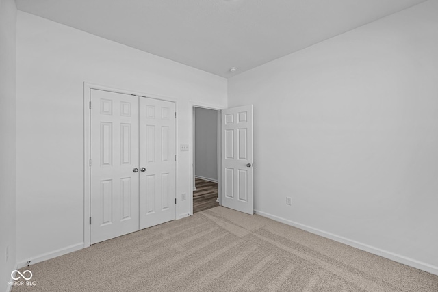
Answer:
<path fill-rule="evenodd" d="M 253 105 L 222 109 L 222 206 L 254 213 Z"/>

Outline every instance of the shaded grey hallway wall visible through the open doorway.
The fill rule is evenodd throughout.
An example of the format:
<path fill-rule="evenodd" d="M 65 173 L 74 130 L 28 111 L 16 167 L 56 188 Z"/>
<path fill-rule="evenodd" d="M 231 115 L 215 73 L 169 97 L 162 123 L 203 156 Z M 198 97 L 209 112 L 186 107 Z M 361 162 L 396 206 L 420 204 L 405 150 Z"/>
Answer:
<path fill-rule="evenodd" d="M 218 181 L 218 111 L 195 107 L 195 176 Z"/>

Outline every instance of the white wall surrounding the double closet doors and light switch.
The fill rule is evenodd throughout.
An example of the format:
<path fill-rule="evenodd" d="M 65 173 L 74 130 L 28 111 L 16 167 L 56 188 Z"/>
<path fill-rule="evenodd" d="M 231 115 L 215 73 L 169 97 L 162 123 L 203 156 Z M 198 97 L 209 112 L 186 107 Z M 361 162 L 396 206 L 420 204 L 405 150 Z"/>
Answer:
<path fill-rule="evenodd" d="M 18 12 L 17 256 L 32 263 L 83 245 L 83 82 L 177 98 L 178 142 L 190 101 L 227 104 L 227 80 Z M 189 152 L 178 152 L 177 216 L 189 213 Z"/>

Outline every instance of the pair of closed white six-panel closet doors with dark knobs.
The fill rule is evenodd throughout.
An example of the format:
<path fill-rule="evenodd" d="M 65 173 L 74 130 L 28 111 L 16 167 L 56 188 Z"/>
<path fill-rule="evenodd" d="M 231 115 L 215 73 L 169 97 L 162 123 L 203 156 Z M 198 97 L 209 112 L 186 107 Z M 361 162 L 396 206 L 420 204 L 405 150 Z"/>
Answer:
<path fill-rule="evenodd" d="M 90 243 L 175 220 L 175 103 L 91 90 Z"/>

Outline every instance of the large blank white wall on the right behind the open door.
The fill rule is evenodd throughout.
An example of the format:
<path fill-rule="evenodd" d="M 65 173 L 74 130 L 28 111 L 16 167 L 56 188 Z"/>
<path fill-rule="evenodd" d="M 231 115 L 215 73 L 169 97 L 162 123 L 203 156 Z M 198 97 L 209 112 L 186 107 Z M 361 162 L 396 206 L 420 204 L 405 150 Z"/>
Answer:
<path fill-rule="evenodd" d="M 254 104 L 259 213 L 438 274 L 437 16 L 428 1 L 229 79 L 229 107 Z"/>

